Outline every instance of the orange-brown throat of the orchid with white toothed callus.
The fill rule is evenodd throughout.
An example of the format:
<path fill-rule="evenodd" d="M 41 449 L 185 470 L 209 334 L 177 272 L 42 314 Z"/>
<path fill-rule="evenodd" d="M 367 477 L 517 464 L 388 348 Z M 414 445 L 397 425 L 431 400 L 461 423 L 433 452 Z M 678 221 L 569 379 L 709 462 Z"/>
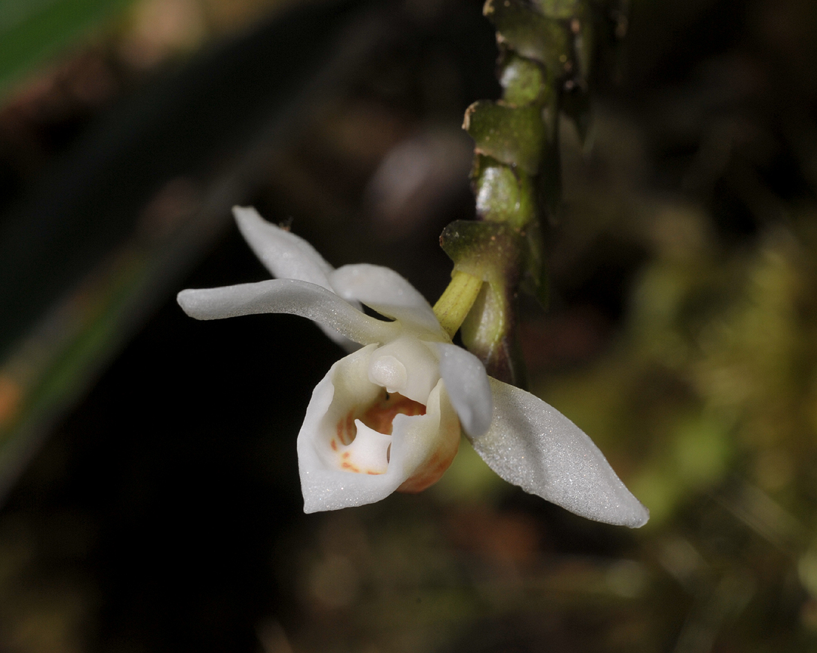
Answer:
<path fill-rule="evenodd" d="M 386 390 L 363 411 L 352 408 L 342 420 L 338 420 L 336 435 L 329 441 L 332 451 L 337 454 L 338 466 L 354 473 L 385 473 L 389 466 L 395 417 L 425 414 L 426 406 L 422 403 Z"/>

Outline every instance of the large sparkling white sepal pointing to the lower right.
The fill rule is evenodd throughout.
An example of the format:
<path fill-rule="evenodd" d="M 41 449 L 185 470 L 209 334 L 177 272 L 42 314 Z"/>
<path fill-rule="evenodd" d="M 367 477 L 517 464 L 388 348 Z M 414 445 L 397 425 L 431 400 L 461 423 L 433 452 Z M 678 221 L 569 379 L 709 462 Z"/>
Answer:
<path fill-rule="evenodd" d="M 647 522 L 649 511 L 578 426 L 524 390 L 490 384 L 493 422 L 471 443 L 494 472 L 582 517 L 631 528 Z"/>

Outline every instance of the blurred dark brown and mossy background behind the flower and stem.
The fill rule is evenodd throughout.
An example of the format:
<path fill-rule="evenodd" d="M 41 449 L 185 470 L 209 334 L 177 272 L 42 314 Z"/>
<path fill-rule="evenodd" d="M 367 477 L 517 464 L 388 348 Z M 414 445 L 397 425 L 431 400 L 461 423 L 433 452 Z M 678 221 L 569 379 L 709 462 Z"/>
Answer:
<path fill-rule="evenodd" d="M 20 82 L 0 111 L 4 210 L 154 76 L 270 11 L 287 20 L 137 2 Z M 459 126 L 497 95 L 495 50 L 478 2 L 404 16 L 245 200 L 434 300 L 436 238 L 473 215 Z M 562 126 L 551 306 L 520 308 L 532 389 L 592 433 L 647 526 L 542 504 L 464 442 L 423 495 L 302 515 L 294 439 L 332 346 L 294 318 L 191 325 L 173 288 L 0 513 L 0 650 L 813 650 L 817 7 L 634 0 L 628 27 L 600 62 L 592 147 Z M 163 180 L 138 229 L 178 229 L 208 183 Z M 227 232 L 178 287 L 256 265 Z M 0 379 L 0 419 L 15 393 Z"/>

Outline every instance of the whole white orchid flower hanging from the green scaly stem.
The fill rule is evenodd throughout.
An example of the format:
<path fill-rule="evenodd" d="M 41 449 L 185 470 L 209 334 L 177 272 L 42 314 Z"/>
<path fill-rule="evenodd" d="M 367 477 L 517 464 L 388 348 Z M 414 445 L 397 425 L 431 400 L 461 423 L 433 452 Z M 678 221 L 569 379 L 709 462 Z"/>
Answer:
<path fill-rule="evenodd" d="M 234 215 L 277 278 L 181 291 L 185 313 L 202 320 L 292 313 L 347 349 L 363 345 L 332 366 L 306 408 L 297 451 L 307 513 L 421 491 L 448 468 L 462 427 L 489 467 L 523 490 L 599 522 L 647 521 L 645 507 L 581 429 L 486 375 L 398 273 L 368 264 L 333 269 L 254 209 L 236 207 Z M 392 321 L 366 315 L 358 302 Z"/>

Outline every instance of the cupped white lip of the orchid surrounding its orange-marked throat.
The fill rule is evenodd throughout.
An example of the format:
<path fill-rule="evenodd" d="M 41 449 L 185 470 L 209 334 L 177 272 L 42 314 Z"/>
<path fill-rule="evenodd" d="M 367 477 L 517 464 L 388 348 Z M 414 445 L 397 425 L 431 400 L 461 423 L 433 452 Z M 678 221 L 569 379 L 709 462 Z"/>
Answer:
<path fill-rule="evenodd" d="M 330 446 L 337 433 L 337 424 L 347 419 L 350 407 L 371 402 L 382 393 L 380 386 L 368 382 L 368 362 L 374 349 L 370 345 L 342 358 L 312 393 L 297 442 L 306 513 L 385 499 L 433 458 L 439 446 L 441 425 L 449 430 L 456 429 L 453 410 L 446 409 L 447 403 L 441 405 L 444 388 L 438 384 L 428 398 L 426 415 L 397 415 L 392 421 L 391 455 L 386 473 L 337 469 Z M 377 447 L 377 442 L 372 444 Z"/>

